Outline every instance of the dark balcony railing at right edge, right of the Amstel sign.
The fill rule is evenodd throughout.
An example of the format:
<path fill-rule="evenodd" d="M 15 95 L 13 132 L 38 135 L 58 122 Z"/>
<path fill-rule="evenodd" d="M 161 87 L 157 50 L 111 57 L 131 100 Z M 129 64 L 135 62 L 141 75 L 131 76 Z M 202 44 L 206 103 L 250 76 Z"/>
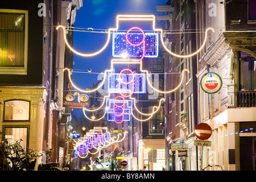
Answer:
<path fill-rule="evenodd" d="M 238 91 L 237 107 L 255 107 L 256 91 Z"/>

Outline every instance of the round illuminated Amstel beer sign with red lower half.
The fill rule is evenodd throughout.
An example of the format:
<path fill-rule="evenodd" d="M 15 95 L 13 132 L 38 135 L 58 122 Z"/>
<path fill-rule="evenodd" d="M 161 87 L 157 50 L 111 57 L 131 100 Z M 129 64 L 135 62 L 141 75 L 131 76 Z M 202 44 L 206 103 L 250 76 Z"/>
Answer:
<path fill-rule="evenodd" d="M 200 85 L 204 92 L 213 94 L 221 89 L 222 80 L 217 73 L 208 72 L 202 76 Z"/>

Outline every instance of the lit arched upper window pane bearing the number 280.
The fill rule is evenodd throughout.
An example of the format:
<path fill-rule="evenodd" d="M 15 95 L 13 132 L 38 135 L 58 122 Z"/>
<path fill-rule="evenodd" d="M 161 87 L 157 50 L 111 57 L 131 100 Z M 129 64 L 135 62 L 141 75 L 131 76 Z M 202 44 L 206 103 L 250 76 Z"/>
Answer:
<path fill-rule="evenodd" d="M 28 121 L 30 119 L 30 102 L 22 100 L 5 101 L 4 121 Z"/>

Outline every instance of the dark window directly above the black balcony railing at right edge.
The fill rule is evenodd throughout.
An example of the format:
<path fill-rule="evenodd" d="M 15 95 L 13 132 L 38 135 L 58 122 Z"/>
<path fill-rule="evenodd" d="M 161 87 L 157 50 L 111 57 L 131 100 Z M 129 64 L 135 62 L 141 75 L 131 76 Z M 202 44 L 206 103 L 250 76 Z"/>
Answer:
<path fill-rule="evenodd" d="M 256 60 L 240 59 L 240 90 L 256 90 Z"/>

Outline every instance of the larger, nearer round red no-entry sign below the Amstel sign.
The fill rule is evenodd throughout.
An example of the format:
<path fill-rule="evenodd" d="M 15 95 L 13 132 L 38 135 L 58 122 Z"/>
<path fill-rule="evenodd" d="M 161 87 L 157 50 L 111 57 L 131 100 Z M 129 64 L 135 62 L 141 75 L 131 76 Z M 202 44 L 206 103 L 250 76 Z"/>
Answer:
<path fill-rule="evenodd" d="M 200 140 L 207 140 L 212 135 L 212 128 L 207 123 L 200 123 L 195 127 L 196 137 Z"/>

